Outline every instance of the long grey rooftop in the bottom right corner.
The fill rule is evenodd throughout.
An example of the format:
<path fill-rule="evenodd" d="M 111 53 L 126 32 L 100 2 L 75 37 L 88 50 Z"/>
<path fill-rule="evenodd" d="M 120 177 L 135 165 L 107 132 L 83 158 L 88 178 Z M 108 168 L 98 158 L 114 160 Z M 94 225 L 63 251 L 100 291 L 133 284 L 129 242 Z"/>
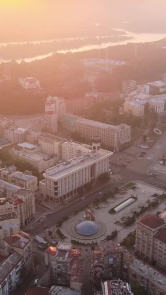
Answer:
<path fill-rule="evenodd" d="M 166 277 L 156 271 L 154 268 L 149 265 L 143 264 L 139 260 L 134 260 L 130 265 L 130 268 L 133 271 L 136 271 L 146 279 L 149 279 L 152 284 L 158 286 L 160 289 L 166 292 Z"/>

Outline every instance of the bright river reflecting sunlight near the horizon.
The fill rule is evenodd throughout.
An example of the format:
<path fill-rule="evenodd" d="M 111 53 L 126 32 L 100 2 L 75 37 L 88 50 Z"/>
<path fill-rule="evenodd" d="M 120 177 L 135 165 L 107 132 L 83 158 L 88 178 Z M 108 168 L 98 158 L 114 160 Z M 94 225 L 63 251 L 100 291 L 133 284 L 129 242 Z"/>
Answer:
<path fill-rule="evenodd" d="M 67 52 L 82 52 L 82 51 L 87 51 L 87 50 L 92 50 L 92 49 L 104 49 L 110 46 L 116 46 L 116 45 L 125 45 L 127 43 L 145 43 L 145 42 L 154 42 L 154 41 L 158 41 L 161 40 L 163 38 L 166 38 L 166 33 L 133 33 L 133 32 L 128 32 L 128 31 L 124 31 L 123 29 L 114 29 L 116 31 L 123 31 L 124 35 L 126 37 L 131 37 L 131 39 L 127 38 L 126 40 L 122 40 L 122 41 L 117 41 L 117 42 L 103 42 L 99 44 L 98 39 L 99 38 L 104 38 L 107 36 L 96 36 L 96 44 L 91 44 L 91 45 L 86 45 L 83 47 L 78 47 L 78 48 L 71 48 L 71 49 L 61 49 L 61 50 L 57 50 L 55 52 L 49 52 L 47 54 L 43 54 L 43 55 L 37 55 L 37 56 L 33 56 L 30 58 L 24 58 L 24 59 L 17 59 L 16 62 L 17 63 L 21 63 L 22 61 L 26 62 L 26 63 L 30 63 L 34 60 L 41 60 L 44 59 L 46 57 L 51 56 L 53 53 L 67 53 Z M 123 35 L 123 36 L 124 36 Z M 71 40 L 83 40 L 85 38 L 88 37 L 83 37 L 83 38 L 66 38 L 66 39 L 50 39 L 50 40 L 39 40 L 39 41 L 27 41 L 27 42 L 8 42 L 8 43 L 0 43 L 0 46 L 7 46 L 7 45 L 22 45 L 22 44 L 40 44 L 40 43 L 51 43 L 53 41 L 58 41 L 61 42 L 63 40 L 66 41 L 71 41 Z M 0 59 L 0 63 L 4 62 L 10 62 L 11 60 L 8 59 Z"/>

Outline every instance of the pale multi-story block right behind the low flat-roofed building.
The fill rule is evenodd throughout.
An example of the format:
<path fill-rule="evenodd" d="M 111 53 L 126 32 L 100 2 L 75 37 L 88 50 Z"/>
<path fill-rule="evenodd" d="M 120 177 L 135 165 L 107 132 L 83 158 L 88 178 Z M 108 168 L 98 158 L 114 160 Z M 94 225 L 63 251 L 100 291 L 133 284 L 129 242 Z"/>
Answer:
<path fill-rule="evenodd" d="M 42 152 L 47 155 L 56 155 L 57 161 L 62 158 L 61 144 L 65 141 L 65 138 L 52 134 L 41 134 L 38 138 L 38 143 L 41 147 Z"/>

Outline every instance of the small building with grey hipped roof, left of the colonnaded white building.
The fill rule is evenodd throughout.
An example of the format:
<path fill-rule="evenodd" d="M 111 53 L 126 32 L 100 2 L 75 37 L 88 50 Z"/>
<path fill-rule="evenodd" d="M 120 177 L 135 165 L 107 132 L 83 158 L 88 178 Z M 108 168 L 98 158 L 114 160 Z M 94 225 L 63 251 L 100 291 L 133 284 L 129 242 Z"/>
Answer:
<path fill-rule="evenodd" d="M 8 176 L 8 182 L 30 190 L 33 193 L 37 191 L 37 177 L 33 175 L 27 175 L 17 171 Z"/>

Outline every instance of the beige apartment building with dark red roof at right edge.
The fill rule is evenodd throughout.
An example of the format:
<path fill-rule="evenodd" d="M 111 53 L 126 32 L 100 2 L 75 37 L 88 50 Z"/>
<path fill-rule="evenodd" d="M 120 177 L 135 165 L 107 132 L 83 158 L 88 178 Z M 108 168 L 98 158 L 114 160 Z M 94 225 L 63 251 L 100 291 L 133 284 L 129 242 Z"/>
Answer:
<path fill-rule="evenodd" d="M 166 269 L 166 223 L 156 215 L 137 220 L 135 252 L 148 262 L 156 262 Z"/>

